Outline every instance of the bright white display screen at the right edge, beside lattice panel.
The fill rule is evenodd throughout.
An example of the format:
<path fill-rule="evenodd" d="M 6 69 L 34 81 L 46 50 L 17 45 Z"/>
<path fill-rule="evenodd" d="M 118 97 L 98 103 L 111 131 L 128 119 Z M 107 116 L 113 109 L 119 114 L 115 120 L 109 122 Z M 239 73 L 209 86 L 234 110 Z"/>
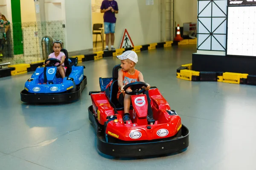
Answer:
<path fill-rule="evenodd" d="M 256 57 L 256 6 L 228 7 L 227 55 Z"/>

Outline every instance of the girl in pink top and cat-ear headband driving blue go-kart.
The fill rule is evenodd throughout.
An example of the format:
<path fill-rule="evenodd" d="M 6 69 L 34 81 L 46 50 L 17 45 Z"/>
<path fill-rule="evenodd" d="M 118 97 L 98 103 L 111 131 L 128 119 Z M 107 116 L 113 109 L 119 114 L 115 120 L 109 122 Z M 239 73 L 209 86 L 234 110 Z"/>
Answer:
<path fill-rule="evenodd" d="M 62 48 L 61 40 L 53 40 L 52 48 L 54 53 L 50 54 L 48 59 L 54 58 L 61 61 L 61 63 L 57 62 L 55 65 L 60 64 L 60 66 L 58 67 L 58 72 L 61 74 L 61 77 L 64 79 L 67 68 L 63 67 L 66 56 L 63 52 L 61 52 L 61 48 Z M 44 65 L 47 65 L 48 63 L 49 61 L 47 63 L 44 63 Z"/>

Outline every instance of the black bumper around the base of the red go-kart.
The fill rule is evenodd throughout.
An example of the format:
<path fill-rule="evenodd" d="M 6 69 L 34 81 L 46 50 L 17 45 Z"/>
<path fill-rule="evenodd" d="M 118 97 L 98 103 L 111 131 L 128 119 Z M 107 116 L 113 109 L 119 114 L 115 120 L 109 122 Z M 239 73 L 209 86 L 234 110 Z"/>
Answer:
<path fill-rule="evenodd" d="M 93 115 L 93 108 L 88 108 L 89 119 L 97 134 L 97 146 L 101 153 L 115 157 L 142 157 L 158 156 L 171 153 L 179 153 L 189 146 L 189 130 L 186 126 L 181 127 L 181 137 L 143 143 L 107 143 L 104 138 L 104 127 L 99 125 Z"/>

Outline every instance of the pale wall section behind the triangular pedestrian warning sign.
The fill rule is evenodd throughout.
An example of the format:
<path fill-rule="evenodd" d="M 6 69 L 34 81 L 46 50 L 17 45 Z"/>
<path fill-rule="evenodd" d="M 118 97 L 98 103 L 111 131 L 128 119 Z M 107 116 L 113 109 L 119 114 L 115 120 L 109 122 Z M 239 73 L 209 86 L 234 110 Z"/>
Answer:
<path fill-rule="evenodd" d="M 146 6 L 145 0 L 117 0 L 115 48 L 119 48 L 127 28 L 134 45 L 160 42 L 160 2 Z"/>

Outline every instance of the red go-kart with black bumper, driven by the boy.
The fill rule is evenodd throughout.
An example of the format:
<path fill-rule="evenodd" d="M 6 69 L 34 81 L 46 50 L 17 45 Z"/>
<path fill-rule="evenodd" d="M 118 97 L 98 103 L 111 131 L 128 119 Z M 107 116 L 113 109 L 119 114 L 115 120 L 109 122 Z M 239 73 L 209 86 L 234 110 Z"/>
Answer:
<path fill-rule="evenodd" d="M 89 93 L 89 119 L 96 130 L 99 151 L 109 156 L 137 157 L 185 150 L 189 146 L 189 130 L 156 87 L 145 91 L 144 82 L 126 85 L 124 90 L 132 90 L 125 92 L 131 95 L 131 120 L 122 120 L 124 108 L 116 98 L 120 68 L 113 68 L 112 78 L 99 78 L 101 91 Z"/>

